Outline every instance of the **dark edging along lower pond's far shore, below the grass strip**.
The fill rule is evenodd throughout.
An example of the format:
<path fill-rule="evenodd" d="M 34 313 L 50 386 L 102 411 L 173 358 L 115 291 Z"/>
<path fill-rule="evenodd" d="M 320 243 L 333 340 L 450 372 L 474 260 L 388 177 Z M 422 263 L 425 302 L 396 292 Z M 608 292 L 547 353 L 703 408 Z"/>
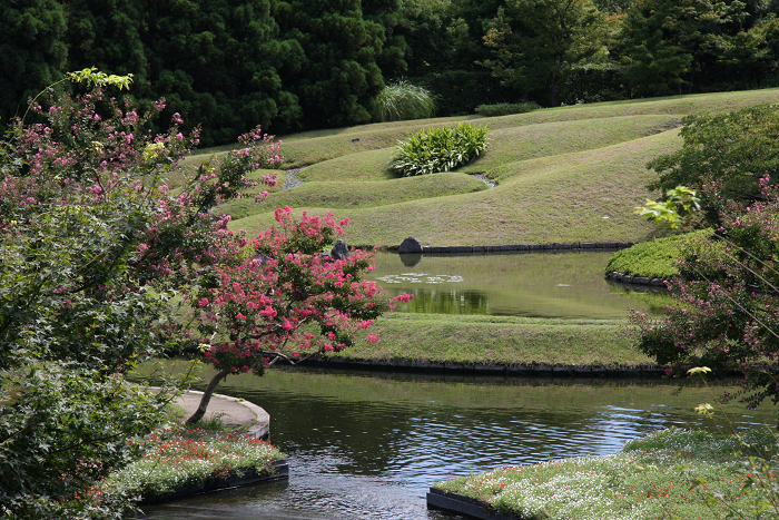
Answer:
<path fill-rule="evenodd" d="M 366 370 L 392 372 L 444 373 L 456 375 L 497 375 L 511 376 L 555 376 L 555 377 L 659 377 L 665 375 L 665 366 L 578 366 L 578 365 L 501 365 L 486 363 L 440 363 L 431 361 L 408 360 L 349 360 L 326 356 L 310 357 L 305 366 Z"/>

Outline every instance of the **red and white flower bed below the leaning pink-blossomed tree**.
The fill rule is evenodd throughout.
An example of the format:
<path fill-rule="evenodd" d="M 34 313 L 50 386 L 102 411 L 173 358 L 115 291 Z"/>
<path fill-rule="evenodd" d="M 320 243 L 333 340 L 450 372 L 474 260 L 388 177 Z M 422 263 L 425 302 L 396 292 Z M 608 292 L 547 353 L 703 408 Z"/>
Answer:
<path fill-rule="evenodd" d="M 109 488 L 154 499 L 207 479 L 227 478 L 247 468 L 273 472 L 285 454 L 243 433 L 176 428 L 149 435 L 136 462 L 114 473 Z"/>

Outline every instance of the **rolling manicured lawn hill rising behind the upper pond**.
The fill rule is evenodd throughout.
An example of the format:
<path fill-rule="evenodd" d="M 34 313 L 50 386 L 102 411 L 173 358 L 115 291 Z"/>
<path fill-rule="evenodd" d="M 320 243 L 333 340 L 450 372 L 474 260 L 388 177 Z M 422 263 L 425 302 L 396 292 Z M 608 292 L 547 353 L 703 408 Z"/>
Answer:
<path fill-rule="evenodd" d="M 651 196 L 644 185 L 654 174 L 645 164 L 680 146 L 681 118 L 776 101 L 779 90 L 768 89 L 298 134 L 284 138 L 282 151 L 285 168 L 307 165 L 297 174 L 305 184 L 276 188 L 262 205 L 245 199 L 223 209 L 234 215 L 234 228 L 250 234 L 273 223 L 276 206 L 332 210 L 349 218 L 346 239 L 356 245 L 396 246 L 410 235 L 431 245 L 642 242 L 652 226 L 633 209 Z M 489 126 L 483 157 L 418 178 L 387 170 L 398 139 L 462 120 Z M 487 188 L 470 173 L 485 173 L 499 186 Z"/>

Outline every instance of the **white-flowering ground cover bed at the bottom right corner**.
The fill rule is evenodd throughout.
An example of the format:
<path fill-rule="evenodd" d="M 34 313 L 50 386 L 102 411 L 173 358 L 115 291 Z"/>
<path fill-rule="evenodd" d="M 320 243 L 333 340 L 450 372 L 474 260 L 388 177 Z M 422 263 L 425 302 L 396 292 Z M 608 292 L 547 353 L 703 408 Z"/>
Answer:
<path fill-rule="evenodd" d="M 497 468 L 435 488 L 524 519 L 779 518 L 770 503 L 776 461 L 770 432 L 737 439 L 672 429 L 612 455 Z"/>

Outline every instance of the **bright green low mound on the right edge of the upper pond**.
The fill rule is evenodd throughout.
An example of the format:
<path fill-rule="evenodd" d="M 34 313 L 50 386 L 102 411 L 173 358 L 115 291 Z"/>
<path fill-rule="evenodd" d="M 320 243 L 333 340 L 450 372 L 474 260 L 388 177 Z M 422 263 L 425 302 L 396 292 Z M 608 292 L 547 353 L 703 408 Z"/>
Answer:
<path fill-rule="evenodd" d="M 711 237 L 711 230 L 703 229 L 637 244 L 614 253 L 605 266 L 605 272 L 650 278 L 671 278 L 679 274 L 677 262 L 681 257 L 682 248 L 693 246 L 709 237 Z"/>

